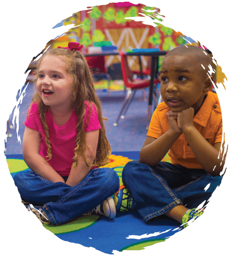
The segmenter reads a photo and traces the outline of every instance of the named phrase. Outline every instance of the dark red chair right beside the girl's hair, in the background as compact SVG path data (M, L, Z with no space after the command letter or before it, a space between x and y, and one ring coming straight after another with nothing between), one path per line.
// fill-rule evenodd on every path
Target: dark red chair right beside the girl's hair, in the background
M87 64L90 67L93 76L105 75L108 82L108 89L110 88L110 76L105 68L105 56L86 56Z

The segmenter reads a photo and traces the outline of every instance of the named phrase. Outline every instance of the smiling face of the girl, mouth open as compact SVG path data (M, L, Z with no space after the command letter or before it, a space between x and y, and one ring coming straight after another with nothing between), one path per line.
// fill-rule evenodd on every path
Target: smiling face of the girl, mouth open
M45 105L70 110L72 78L66 72L64 56L46 55L40 64L36 89Z

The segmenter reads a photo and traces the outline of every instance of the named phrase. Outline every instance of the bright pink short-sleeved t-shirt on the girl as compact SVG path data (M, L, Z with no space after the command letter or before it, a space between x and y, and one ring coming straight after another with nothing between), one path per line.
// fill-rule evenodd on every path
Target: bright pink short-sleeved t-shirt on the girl
M37 109L38 102L32 104L31 111L27 112L27 120L24 123L25 126L31 128L33 130L38 131L41 134L41 149L40 155L45 158L47 155L47 145L45 142L45 131L40 119L40 115ZM96 110L96 106L92 103L91 106L91 116L89 122L87 124L87 117L89 114L89 101L85 101L86 106L86 114L84 116L84 130L85 133L98 130L101 128L100 122L98 120L98 113ZM30 115L29 115L30 114ZM78 117L73 110L73 113L68 120L62 126L58 126L55 124L55 121L52 117L52 114L49 110L45 113L46 123L49 128L49 136L52 148L52 159L49 160L49 164L52 166L55 171L61 176L68 176L73 164L72 158L74 157L74 148L75 141L77 137L77 121ZM96 168L92 167L91 169Z

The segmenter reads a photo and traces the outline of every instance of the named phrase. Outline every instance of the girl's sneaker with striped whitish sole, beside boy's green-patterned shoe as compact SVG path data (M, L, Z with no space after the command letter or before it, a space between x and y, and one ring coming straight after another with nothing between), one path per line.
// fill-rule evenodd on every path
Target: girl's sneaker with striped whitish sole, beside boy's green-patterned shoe
M103 215L109 219L114 219L116 215L114 199L112 197L108 197L99 206L83 215L91 215L92 213Z

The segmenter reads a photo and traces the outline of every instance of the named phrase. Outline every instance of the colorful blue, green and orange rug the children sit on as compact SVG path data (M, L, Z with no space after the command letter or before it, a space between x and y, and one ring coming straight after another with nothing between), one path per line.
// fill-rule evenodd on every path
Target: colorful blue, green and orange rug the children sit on
M23 155L5 155L12 177L28 169ZM110 162L104 167L114 169L122 183L123 166L131 160L139 159L139 152L112 152ZM163 159L169 161L168 155ZM22 204L22 210L23 210ZM25 207L24 207L25 208ZM25 214L27 210L25 208ZM29 213L28 214L32 214ZM35 216L35 221L39 221ZM41 224L42 225L42 224ZM82 215L58 226L44 225L44 228L65 242L93 247L105 254L117 251L141 251L180 231L180 224L168 217L155 219L145 224L136 210L117 212L114 219L99 215Z

